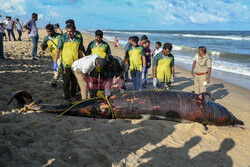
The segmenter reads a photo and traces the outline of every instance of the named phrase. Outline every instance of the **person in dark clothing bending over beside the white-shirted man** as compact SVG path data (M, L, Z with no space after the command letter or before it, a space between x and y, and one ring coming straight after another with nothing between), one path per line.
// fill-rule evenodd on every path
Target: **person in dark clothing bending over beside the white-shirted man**
M105 57L107 67L104 70L105 78L105 96L111 95L111 87L113 85L113 78L116 77L117 89L120 93L125 92L124 83L124 62L118 56L106 55Z

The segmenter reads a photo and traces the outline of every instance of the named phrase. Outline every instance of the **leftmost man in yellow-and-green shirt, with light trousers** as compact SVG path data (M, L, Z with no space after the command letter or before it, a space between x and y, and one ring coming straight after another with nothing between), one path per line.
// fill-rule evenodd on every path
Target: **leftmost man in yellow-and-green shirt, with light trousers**
M54 26L52 24L47 24L45 29L48 35L44 38L43 43L41 44L41 48L43 51L49 48L50 55L54 62L58 42L62 35L55 32ZM61 53L59 53L59 56L57 59L57 65L58 65L58 70L54 71L54 76L53 76L53 81L52 81L53 87L57 86L57 80L59 79L59 74L61 72Z

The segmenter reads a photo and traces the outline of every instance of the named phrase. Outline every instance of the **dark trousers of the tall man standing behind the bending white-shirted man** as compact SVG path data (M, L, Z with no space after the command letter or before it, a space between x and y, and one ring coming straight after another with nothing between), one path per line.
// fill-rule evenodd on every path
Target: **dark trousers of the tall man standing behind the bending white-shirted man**
M63 68L63 92L65 99L70 99L71 97L76 96L77 79L71 68Z

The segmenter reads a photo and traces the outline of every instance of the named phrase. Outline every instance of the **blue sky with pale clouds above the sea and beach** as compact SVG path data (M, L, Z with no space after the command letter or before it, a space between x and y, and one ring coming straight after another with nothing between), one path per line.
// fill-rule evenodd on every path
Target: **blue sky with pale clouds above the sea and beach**
M250 0L0 0L0 15L37 25L116 30L250 30ZM1 18L2 20L4 18Z

